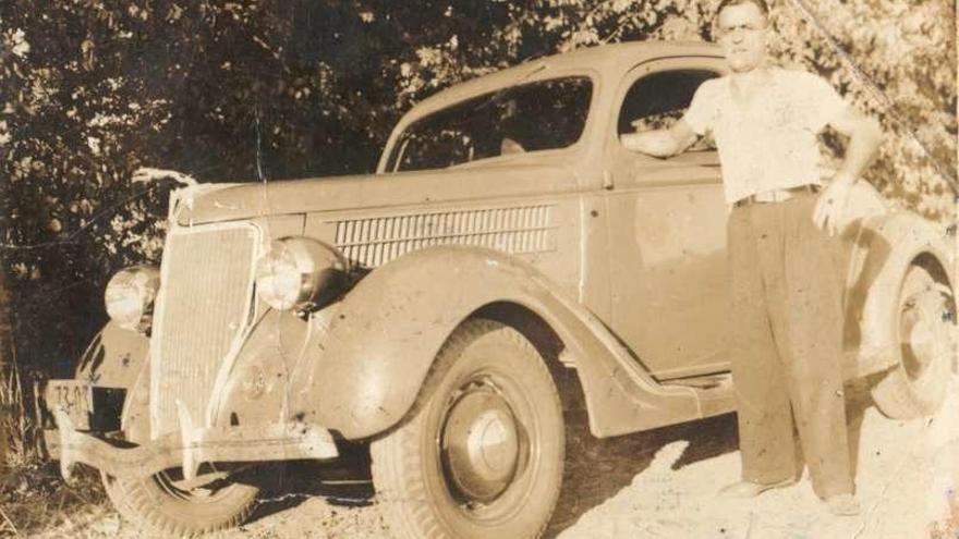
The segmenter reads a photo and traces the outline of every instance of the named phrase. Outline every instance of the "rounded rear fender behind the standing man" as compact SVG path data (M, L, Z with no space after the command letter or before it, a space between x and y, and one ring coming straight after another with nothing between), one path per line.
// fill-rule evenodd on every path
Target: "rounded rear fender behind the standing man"
M911 265L935 265L947 281L944 284L955 283L955 250L948 237L914 213L867 220L858 244L867 250L862 272L847 298L848 311L859 318L847 322L847 328L859 332L854 354L858 360L854 371L847 376L870 375L898 363L899 292ZM850 341L847 331L847 344Z

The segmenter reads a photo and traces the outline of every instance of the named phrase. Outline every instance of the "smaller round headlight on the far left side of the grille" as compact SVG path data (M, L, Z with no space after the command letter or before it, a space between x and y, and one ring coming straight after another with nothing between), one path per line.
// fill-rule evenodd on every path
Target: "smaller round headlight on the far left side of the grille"
M151 322L159 287L160 272L153 266L134 266L118 271L104 291L107 315L121 328L146 330Z

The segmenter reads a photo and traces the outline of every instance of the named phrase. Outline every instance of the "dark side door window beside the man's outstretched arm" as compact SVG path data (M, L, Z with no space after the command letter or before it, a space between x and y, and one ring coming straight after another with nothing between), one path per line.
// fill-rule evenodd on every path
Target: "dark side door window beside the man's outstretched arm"
M717 76L709 70L675 70L641 77L622 101L618 134L669 127L685 113L696 88ZM711 147L712 140L701 140L692 149Z

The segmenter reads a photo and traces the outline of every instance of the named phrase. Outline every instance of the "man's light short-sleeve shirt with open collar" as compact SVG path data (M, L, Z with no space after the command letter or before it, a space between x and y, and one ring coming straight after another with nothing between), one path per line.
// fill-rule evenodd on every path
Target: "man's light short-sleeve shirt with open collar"
M706 81L683 115L697 135L713 132L729 204L822 183L817 135L847 107L816 75L778 68L770 75L749 102L732 98L731 77Z

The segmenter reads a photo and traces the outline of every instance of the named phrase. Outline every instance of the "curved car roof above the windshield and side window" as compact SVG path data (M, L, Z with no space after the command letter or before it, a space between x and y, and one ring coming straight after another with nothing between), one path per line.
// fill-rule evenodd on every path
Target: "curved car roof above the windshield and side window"
M536 58L438 91L414 106L402 123L498 88L550 78L553 73L593 71L598 72L602 78L619 78L623 72L644 60L689 56L721 57L721 51L718 46L706 41L628 41Z

